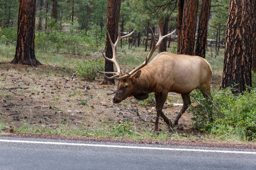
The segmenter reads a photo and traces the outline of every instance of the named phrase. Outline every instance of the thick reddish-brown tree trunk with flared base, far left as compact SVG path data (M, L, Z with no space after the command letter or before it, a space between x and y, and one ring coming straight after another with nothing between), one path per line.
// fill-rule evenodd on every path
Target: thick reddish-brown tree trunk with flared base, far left
M19 0L19 17L16 53L11 63L37 66L35 58L36 0Z

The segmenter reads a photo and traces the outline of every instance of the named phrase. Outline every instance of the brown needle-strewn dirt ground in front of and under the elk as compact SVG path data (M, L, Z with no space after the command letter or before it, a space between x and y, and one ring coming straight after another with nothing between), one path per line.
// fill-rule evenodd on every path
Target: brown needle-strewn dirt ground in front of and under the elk
M72 80L72 75L73 71L61 67L0 63L0 122L7 127L0 131L20 127L24 122L54 130L63 125L67 129L102 128L128 120L134 122L138 133L154 125L154 105L139 105L133 97L114 104L117 85L100 85L102 80L85 82L77 76ZM181 97L170 93L163 112L173 121L181 106ZM178 133L197 133L189 126L191 117L185 113L180 118ZM162 119L159 125L160 130L168 131Z

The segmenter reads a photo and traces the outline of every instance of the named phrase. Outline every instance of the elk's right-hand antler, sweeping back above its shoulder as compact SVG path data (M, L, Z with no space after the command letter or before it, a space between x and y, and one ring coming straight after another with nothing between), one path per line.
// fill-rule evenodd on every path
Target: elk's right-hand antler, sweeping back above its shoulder
M154 35L154 32L153 32L153 30L152 30L151 27L150 27L150 30L151 30L151 32L152 32L152 40L153 40L151 50L150 50L150 52L148 53L148 55L147 55L147 57L146 57L146 60L145 60L141 65L139 65L138 67L136 67L134 70L130 71L130 73L127 74L127 75L129 75L129 76L131 76L132 74L134 74L135 72L137 72L137 71L138 71L139 69L141 69L142 67L146 66L146 65L147 65L147 62L150 60L150 58L151 58L152 55L154 54L155 49L158 48L158 46L161 44L161 42L163 41L163 39L165 39L166 37L172 35L172 34L176 31L176 29L175 29L175 31L173 31L173 32L171 32L171 33L169 33L169 34L167 34L167 35L165 35L165 36L162 36L161 31L160 31L160 28L159 28L159 25L158 25L159 37L158 37L158 42L156 43L156 42L155 42L155 35ZM122 76L122 77L126 78L126 76ZM122 77L120 77L120 78L122 78Z

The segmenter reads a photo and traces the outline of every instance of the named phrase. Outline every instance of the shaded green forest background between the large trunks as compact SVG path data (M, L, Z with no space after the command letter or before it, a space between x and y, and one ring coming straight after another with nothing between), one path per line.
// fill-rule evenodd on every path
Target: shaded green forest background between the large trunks
M201 8L200 2L199 9ZM214 0L211 4L208 39L216 46L216 51L224 45L228 3L228 0ZM18 0L0 1L0 26L2 28L0 35L2 42L15 43L16 41L15 34L11 35L11 32L16 32L18 4ZM200 10L197 13L199 16ZM164 18L167 20L167 32L171 32L177 28L177 14L177 1L126 0L121 3L119 24L122 33L135 30L133 37L129 40L131 48L132 46L145 45L145 50L148 50L150 45L147 41L148 27L155 30L155 25ZM99 46L105 44L106 19L107 0L37 1L36 47L43 46L42 42L39 41L41 41L40 36L43 36L44 33L49 35L51 32L58 32L58 36L65 36L75 31L80 36L87 37L89 44L93 44L96 51ZM167 45L170 47L170 42ZM57 47L57 52L60 51L61 44ZM79 50L73 50L73 53L79 53Z

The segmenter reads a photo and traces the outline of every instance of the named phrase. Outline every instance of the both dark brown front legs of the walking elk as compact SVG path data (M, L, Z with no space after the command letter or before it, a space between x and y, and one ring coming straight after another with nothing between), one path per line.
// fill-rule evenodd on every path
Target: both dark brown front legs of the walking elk
M159 116L163 117L164 122L167 123L167 125L170 127L172 125L172 121L164 115L162 109L163 105L166 102L168 92L160 92L160 94L155 94L155 102L156 102L156 121L154 130L158 130L158 122L159 122Z

